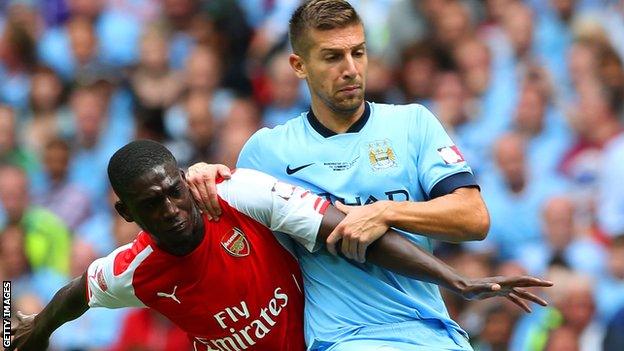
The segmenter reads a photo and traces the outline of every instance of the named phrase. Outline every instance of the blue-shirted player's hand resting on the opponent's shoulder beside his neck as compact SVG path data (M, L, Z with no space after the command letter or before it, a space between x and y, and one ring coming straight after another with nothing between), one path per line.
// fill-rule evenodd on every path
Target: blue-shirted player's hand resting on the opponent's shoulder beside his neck
M191 194L209 220L216 220L221 215L216 184L219 176L230 179L232 173L227 166L209 165L204 162L192 165L186 173L186 183L191 189Z

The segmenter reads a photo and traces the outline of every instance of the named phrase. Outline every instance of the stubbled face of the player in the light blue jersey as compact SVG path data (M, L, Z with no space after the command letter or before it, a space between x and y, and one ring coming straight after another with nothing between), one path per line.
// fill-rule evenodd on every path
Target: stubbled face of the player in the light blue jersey
M302 70L313 99L336 112L355 112L364 103L366 43L361 24L307 33L309 50Z

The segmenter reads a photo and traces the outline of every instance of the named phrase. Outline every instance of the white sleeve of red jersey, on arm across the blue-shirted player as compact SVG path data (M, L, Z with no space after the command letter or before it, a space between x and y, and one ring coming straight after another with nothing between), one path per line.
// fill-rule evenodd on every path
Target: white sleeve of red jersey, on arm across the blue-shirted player
M239 168L217 185L219 196L237 211L272 231L291 236L314 251L323 214L330 203L305 189L251 169Z

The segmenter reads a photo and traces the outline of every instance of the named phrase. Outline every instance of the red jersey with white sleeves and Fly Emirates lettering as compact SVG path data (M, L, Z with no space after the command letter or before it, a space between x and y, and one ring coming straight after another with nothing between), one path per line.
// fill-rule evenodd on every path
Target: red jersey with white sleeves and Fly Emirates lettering
M89 306L153 308L197 351L305 350L301 273L271 230L314 250L329 203L247 169L217 189L223 214L195 250L173 256L139 233L89 266Z

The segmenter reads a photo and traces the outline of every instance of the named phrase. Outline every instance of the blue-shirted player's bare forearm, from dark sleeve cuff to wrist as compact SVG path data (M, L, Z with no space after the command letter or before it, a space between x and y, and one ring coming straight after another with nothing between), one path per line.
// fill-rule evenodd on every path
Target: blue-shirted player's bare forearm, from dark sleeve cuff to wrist
M383 211L390 227L430 238L462 242L483 240L489 229L489 215L477 189L461 188L425 202L385 201Z

